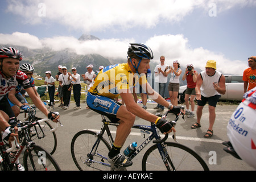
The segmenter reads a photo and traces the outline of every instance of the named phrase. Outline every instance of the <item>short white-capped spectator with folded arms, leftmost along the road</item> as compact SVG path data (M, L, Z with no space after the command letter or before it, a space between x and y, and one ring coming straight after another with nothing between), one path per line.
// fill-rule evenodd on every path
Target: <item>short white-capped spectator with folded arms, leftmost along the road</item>
M48 93L49 93L49 106L52 106L54 103L54 93L55 93L55 80L52 77L52 72L51 71L46 71L46 79L44 81L45 85L48 85Z

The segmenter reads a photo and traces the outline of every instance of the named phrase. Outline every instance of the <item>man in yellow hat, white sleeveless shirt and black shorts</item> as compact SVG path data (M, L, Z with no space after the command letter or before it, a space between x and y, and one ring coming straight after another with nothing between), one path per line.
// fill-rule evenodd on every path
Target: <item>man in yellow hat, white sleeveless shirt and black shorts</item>
M201 117L203 108L208 102L209 106L209 128L205 133L205 138L210 138L213 135L213 124L216 113L215 107L221 94L226 93L225 77L222 73L216 71L216 61L209 60L205 65L205 71L197 76L196 82L196 100L197 100L197 122L191 126L191 129L201 127Z

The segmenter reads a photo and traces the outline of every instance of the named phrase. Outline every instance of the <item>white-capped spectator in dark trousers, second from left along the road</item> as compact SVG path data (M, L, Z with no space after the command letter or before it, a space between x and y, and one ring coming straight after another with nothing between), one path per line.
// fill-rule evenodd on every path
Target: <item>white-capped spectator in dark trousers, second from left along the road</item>
M61 68L63 73L59 76L59 84L62 86L63 92L63 109L68 109L70 98L71 98L71 90L72 90L72 78L67 73L67 67Z

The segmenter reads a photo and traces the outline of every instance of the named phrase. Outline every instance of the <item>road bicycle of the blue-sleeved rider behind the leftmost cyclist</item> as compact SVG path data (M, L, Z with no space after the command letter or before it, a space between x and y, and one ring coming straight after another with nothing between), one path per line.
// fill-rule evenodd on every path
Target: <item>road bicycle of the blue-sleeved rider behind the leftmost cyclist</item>
M24 113L24 119L23 121L19 121L18 125L20 125L20 123L23 123L24 121L32 123L42 119L36 117L36 106L31 106L30 109L26 111L21 111L21 113ZM36 144L42 146L52 155L57 148L57 136L55 130L57 129L58 125L57 123L53 123L53 125L55 125L55 127L53 128L49 121L51 120L47 119L46 121L40 123L40 125L34 125L34 127L31 128L31 131L28 132L32 141L35 141ZM23 133L19 133L20 142L22 142L23 139L22 134Z

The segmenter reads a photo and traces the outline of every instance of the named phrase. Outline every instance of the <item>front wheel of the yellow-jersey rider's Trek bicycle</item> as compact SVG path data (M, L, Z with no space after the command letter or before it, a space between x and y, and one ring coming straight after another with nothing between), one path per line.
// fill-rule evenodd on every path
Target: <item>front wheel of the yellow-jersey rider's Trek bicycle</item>
M179 143L165 142L164 156L160 155L158 145L148 148L142 159L143 171L208 171L204 160L195 151ZM166 160L168 165L164 163Z

